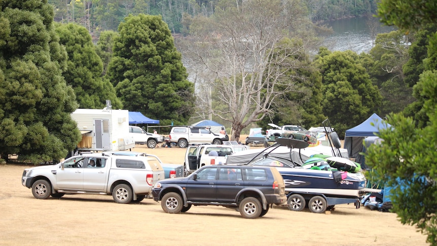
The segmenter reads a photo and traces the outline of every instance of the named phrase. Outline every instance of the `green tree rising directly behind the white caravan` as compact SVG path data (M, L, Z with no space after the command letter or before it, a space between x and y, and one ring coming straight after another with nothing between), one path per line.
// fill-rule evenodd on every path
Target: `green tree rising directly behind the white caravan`
M95 51L88 30L78 24L57 24L60 43L67 50L67 70L63 76L76 93L82 109L102 109L111 100L114 109L121 109L114 86L102 79L103 63Z

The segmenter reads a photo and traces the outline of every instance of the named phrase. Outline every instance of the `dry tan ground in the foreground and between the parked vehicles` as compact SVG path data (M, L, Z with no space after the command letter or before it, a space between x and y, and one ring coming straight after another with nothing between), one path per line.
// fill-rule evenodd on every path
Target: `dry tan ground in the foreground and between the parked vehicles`
M183 164L186 149L135 151ZM0 165L0 245L427 245L396 214L336 205L330 214L273 206L262 218L243 219L234 209L193 206L165 214L160 203L118 204L112 196L65 195L35 199L21 185L26 166Z

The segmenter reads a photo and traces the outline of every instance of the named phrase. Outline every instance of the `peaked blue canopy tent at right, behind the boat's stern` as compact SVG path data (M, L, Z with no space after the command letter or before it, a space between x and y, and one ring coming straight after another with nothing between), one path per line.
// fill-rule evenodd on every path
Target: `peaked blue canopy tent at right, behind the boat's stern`
M346 130L344 148L347 149L349 157L355 158L355 161L358 163L363 163L363 156L359 154L363 151L363 139L369 136L376 136L380 129L389 127L391 127L390 124L384 123L384 120L374 113L361 124Z

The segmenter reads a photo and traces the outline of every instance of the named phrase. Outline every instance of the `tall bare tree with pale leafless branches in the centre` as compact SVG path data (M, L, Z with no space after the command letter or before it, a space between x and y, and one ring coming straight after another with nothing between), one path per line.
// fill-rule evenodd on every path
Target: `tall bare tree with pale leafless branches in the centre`
M231 139L238 140L243 128L273 113L277 98L299 89L297 79L304 76L297 71L302 63L295 56L305 48L283 41L311 29L305 26L304 6L299 0L224 0L211 18L192 20L192 42L186 44L184 57L203 71L199 88L207 88L198 91L203 101L197 104L232 124Z

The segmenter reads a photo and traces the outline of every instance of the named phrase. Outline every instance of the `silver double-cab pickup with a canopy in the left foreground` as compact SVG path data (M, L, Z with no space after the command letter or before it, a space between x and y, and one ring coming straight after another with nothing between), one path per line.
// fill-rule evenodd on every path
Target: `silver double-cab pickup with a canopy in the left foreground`
M21 183L38 199L112 194L117 203L130 203L150 197L154 184L163 179L164 169L156 159L95 153L24 169Z

